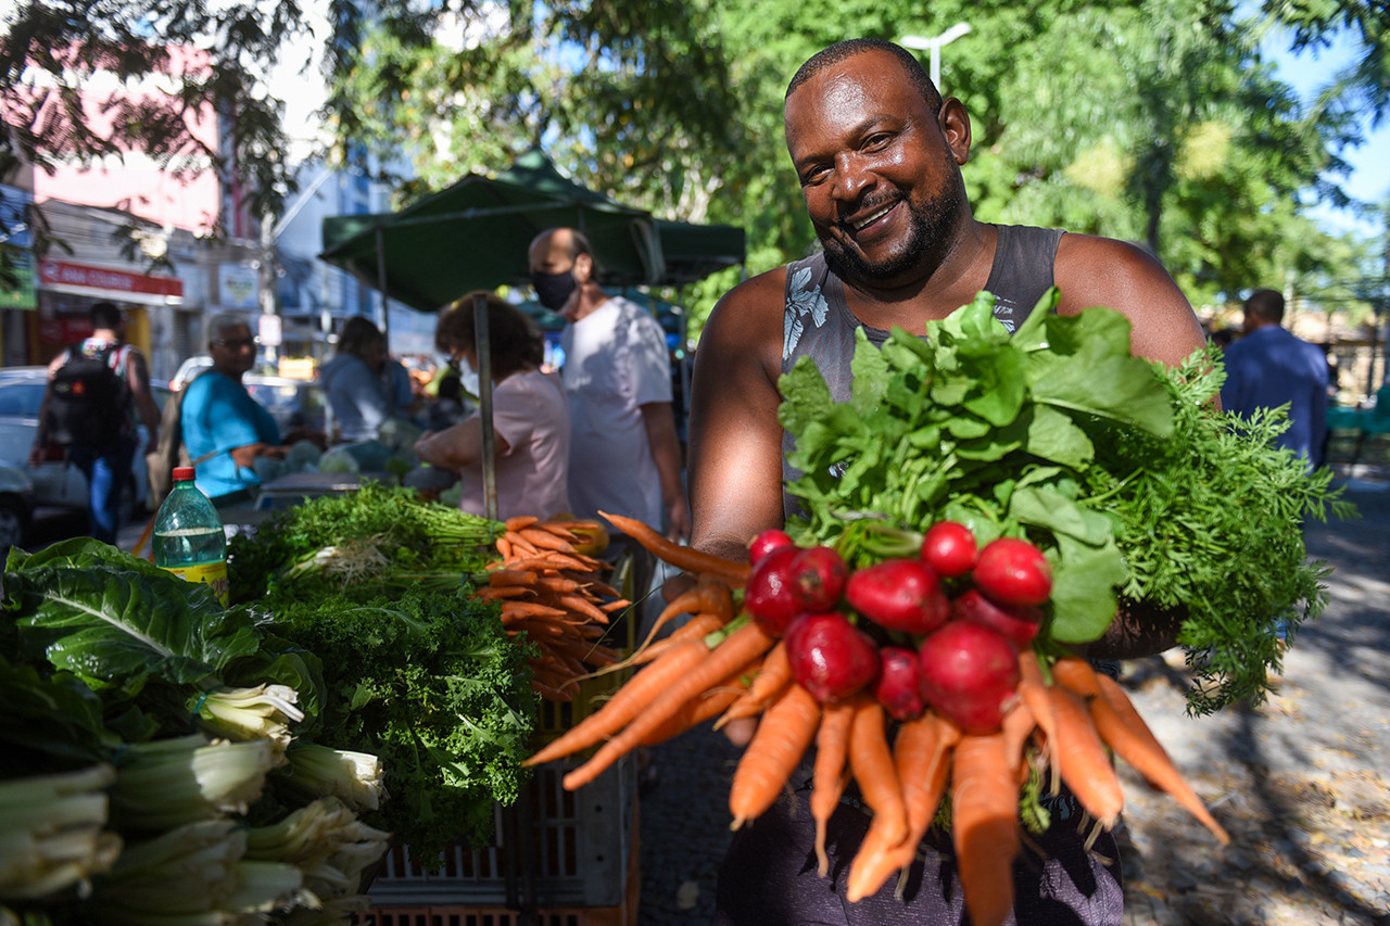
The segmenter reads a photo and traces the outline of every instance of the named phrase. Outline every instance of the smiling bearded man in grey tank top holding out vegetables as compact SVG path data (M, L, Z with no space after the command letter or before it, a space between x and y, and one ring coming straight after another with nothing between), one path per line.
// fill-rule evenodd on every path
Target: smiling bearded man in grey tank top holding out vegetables
M1202 345L1191 306L1141 249L1061 229L974 218L960 165L970 118L942 100L912 53L855 39L812 57L785 101L787 150L821 250L759 277L716 306L701 339L691 388L692 545L746 556L749 539L780 527L788 438L777 423L777 378L815 360L837 400L849 396L855 332L881 343L894 327L924 334L980 291L1011 331L1052 286L1058 311L1111 306L1133 324L1136 356L1177 363ZM1106 655L1159 652L1172 622L1116 620ZM1097 648L1099 652L1101 648ZM795 780L799 786L802 781ZM890 882L848 904L845 872L869 818L851 802L831 820L833 876L816 875L806 790L745 826L720 873L720 923L958 923L959 882L949 838L929 834L908 901ZM1029 923L1113 923L1123 913L1113 840L1087 851L1077 818L1037 840L1015 868L1015 913ZM808 863L808 858L810 862Z

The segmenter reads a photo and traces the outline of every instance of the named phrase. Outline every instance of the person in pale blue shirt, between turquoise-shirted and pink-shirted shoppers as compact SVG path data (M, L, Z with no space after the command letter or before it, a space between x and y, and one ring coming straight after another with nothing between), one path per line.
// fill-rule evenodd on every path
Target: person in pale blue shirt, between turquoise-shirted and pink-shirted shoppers
M318 373L342 441L374 441L392 417L395 399L385 375L386 338L368 318L349 318L338 335L334 359Z

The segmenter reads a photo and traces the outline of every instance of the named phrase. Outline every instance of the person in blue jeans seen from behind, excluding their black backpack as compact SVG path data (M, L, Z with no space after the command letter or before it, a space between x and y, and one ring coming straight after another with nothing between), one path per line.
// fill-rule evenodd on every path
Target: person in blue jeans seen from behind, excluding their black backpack
M49 389L39 410L39 428L33 448L29 449L29 466L38 469L47 459L47 407L53 377L75 356L104 357L121 382L121 395L114 402L117 414L121 416L120 431L113 439L72 444L68 459L88 480L88 524L92 537L114 544L121 530L121 491L129 481L131 463L139 444L135 417L139 416L149 434L146 445L154 446L160 439L160 407L150 391L150 370L145 355L125 343L125 313L114 303L97 302L88 310L88 316L92 320L92 336L75 349L68 348L49 364Z

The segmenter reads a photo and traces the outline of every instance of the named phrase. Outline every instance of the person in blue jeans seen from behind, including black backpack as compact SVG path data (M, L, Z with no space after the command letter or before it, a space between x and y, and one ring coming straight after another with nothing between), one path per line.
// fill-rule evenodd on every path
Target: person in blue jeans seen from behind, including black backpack
M88 480L92 537L114 544L121 528L121 491L139 444L135 417L145 423L153 445L160 437L160 409L145 355L125 343L125 313L99 302L89 317L92 336L49 364L29 466L38 469L47 459L50 444L64 448Z

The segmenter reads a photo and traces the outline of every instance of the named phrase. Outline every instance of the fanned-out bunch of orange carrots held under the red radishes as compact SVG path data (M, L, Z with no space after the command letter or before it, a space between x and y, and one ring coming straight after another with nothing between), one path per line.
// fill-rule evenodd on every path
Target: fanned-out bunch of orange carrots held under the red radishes
M627 660L645 667L599 710L527 759L525 765L538 765L594 749L563 777L567 790L592 781L637 747L708 720L719 729L756 716L758 730L730 788L734 829L773 806L815 745L810 808L821 876L828 870L826 825L851 780L873 820L848 872L849 901L906 872L948 804L965 902L976 926L1002 923L1013 908L1020 790L1034 770L1054 788L1068 786L1094 838L1099 827L1115 825L1123 806L1112 751L1175 797L1222 844L1229 841L1123 688L1084 659L1020 649L1016 691L997 729L987 731L963 729L930 706L897 722L870 691L820 699L794 679L785 638L735 606L749 563L671 544L641 521L603 517L699 578L670 602L657 627L680 613L692 617L663 640L649 637Z

